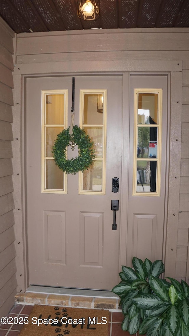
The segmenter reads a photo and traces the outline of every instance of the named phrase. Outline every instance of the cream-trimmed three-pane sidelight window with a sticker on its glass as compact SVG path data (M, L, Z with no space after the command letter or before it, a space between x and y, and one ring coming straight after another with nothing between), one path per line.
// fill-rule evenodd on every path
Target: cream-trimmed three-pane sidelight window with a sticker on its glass
M133 195L160 196L162 89L135 89Z

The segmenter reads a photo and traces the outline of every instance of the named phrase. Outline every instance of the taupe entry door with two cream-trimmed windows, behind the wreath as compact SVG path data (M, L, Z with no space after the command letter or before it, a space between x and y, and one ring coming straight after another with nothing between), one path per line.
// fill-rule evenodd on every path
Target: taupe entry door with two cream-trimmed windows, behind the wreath
M26 167L29 282L111 289L118 281L120 212L112 230L112 178L121 178L122 76L75 77L75 124L96 149L93 167L75 175L54 164L51 148L70 125L72 77L28 78ZM77 146L68 148L68 159Z

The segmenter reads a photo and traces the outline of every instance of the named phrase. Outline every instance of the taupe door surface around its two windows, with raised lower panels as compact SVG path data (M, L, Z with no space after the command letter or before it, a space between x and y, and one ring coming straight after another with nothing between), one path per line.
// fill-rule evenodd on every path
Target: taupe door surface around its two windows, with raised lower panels
M72 78L27 79L29 279L35 285L111 289L119 272L120 211L113 231L111 199L120 204L121 188L114 194L111 187L112 178L121 177L122 76L75 77L78 125L80 89L107 89L106 195L79 195L78 173L68 174L67 194L41 193L41 91L68 90L70 125Z

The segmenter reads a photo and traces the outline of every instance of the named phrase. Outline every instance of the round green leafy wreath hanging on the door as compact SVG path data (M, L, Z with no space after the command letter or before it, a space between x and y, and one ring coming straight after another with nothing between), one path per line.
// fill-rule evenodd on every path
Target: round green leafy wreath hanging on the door
M76 174L78 171L88 169L95 159L95 149L93 142L88 134L77 125L73 126L73 134L69 133L70 127L64 129L57 135L52 147L52 153L56 166L63 170L66 174ZM70 142L74 141L78 146L78 157L66 160L66 147Z

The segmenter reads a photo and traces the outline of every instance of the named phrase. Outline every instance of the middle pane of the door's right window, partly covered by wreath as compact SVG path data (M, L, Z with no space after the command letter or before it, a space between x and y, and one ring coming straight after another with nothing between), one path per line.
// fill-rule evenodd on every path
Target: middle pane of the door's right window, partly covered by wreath
M103 157L103 128L102 127L84 127L85 132L94 142L97 158Z

